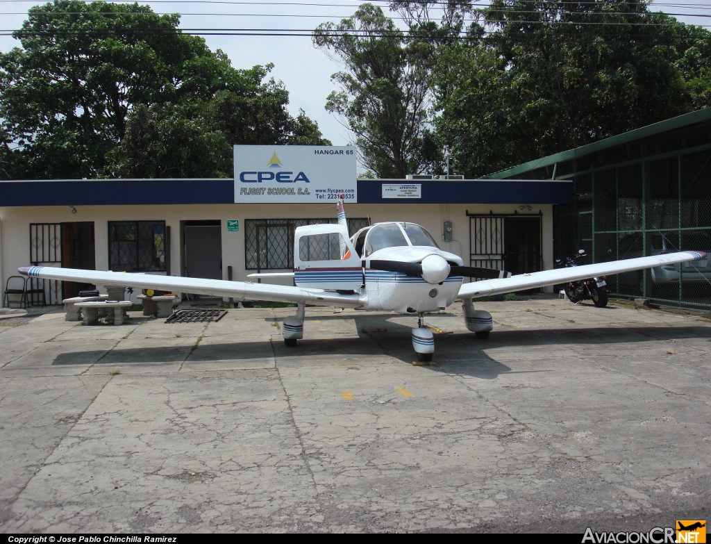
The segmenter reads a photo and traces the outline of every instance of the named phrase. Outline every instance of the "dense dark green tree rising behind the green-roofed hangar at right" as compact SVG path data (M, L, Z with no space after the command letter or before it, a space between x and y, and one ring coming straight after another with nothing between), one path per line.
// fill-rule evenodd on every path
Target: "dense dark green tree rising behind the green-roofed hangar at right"
M709 103L711 34L644 1L493 0L481 14L469 41L440 51L432 77L437 134L463 174Z

